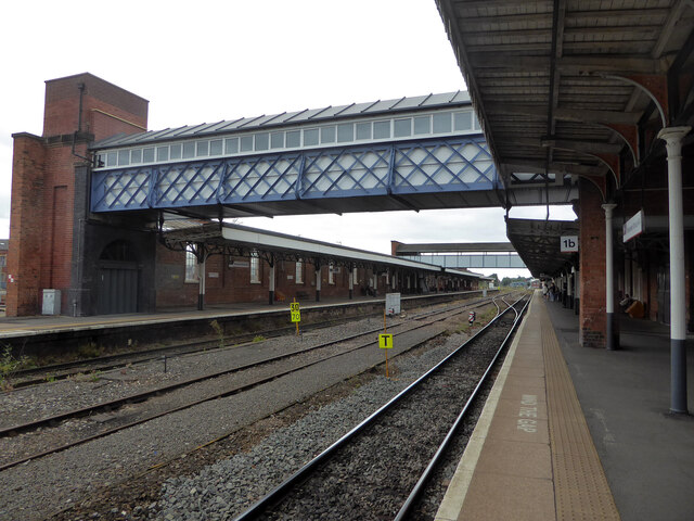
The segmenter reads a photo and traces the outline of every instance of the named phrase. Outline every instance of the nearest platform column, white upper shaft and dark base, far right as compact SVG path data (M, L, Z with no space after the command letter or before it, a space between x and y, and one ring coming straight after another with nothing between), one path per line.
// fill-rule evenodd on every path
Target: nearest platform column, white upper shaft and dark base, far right
M682 138L691 127L667 127L658 138L668 151L668 207L670 228L670 412L687 412L686 406L686 301L684 227L682 209Z

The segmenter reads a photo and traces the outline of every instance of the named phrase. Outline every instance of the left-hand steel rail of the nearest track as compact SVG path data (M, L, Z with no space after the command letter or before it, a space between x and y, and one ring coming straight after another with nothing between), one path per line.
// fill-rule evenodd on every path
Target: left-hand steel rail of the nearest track
M499 309L498 304L494 302L494 305L497 305L497 308ZM485 334L487 332L487 330L489 328L491 328L497 320L499 320L501 317L503 317L506 313L509 313L509 310L512 309L506 308L504 312L499 313L493 320L489 321L489 323L487 323L484 328L481 328L479 331L477 331L473 336L471 336L470 339L467 339L463 344L461 344L458 348L455 348L452 353L450 353L448 356L446 356L444 359L441 359L438 364L436 364L434 367L432 367L428 371L426 371L424 374L422 374L420 378L417 378L414 382L412 382L410 385L408 385L406 389L403 389L402 391L400 391L398 394L396 394L393 398L390 398L385 405L381 406L376 411L374 411L373 414L371 414L367 419L364 419L361 423L359 423L358 425L356 425L354 429L351 429L349 432L347 432L344 436L342 436L339 440L337 440L336 442L334 442L331 446L329 446L325 450L323 450L321 454L319 454L318 456L316 456L311 461L309 461L308 463L306 463L304 467L301 467L298 471L296 471L293 475L291 475L290 478L287 478L284 482L282 482L281 484L279 484L275 488L273 488L272 491L270 491L266 496L264 496L262 498L260 498L257 503L255 503L253 506L250 506L246 511L244 511L243 513L241 513L240 516L237 516L236 518L234 518L233 521L249 521L252 519L257 519L259 516L262 514L262 512L270 507L273 504L280 503L282 496L285 495L285 493L287 491L290 491L293 486L295 486L296 484L298 484L299 482L304 481L305 479L308 478L308 475L318 467L320 466L323 461L332 458L334 456L334 454L337 452L337 449L342 448L343 446L345 446L347 443L349 443L357 434L359 434L360 432L362 432L365 428L368 428L369 425L371 425L372 422L374 422L376 419L378 419L382 415L384 415L387 410L389 410L395 404L399 403L404 396L407 396L408 394L410 394L414 389L416 389L422 382L424 382L425 380L427 380L432 374L434 374L435 372L437 372L442 366L445 366L448 360L452 357L454 357L459 351L461 351L462 348L464 348L467 344L470 344L471 342L473 342L474 340L476 340L477 338L481 336L483 334ZM514 309L515 310L515 309ZM517 312L516 312L517 314Z

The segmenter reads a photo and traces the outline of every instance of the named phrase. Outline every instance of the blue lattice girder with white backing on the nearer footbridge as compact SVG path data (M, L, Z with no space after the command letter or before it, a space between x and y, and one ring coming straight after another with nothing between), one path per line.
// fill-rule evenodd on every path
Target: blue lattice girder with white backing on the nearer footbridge
M92 174L92 212L492 190L481 137L257 154Z

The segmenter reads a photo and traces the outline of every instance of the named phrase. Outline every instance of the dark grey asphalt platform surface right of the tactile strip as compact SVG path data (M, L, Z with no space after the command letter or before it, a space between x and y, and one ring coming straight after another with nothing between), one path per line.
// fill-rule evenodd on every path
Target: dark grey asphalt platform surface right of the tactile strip
M694 520L694 336L690 415L670 415L668 326L620 315L620 350L590 350L573 310L547 307L621 519Z

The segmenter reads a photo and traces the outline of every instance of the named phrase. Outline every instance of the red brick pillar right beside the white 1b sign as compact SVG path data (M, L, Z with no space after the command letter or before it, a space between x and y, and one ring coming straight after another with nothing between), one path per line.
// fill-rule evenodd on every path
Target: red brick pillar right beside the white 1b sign
M586 179L579 182L579 342L605 347L605 211L600 191Z

